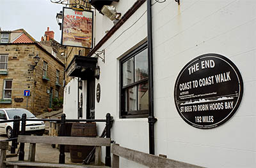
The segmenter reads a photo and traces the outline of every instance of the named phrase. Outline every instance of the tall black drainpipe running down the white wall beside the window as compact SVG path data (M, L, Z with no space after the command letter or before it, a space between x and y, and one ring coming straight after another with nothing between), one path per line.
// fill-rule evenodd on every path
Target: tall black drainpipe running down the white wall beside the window
M148 29L148 131L149 131L149 153L155 155L154 124L157 119L154 116L154 85L153 85L153 47L152 47L152 8L151 0L147 0L147 29Z

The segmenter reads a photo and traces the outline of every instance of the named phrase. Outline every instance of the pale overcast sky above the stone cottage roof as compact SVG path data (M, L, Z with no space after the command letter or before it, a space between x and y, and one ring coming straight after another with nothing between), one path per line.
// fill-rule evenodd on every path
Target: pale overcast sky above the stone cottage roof
M47 27L54 31L54 39L60 42L61 31L56 13L62 4L50 0L0 0L0 27L2 31L24 29L36 41L41 41Z

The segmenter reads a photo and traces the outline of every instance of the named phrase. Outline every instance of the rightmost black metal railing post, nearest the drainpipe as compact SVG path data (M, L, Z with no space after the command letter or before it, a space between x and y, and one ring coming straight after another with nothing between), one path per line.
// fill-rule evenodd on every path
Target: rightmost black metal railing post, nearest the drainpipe
M111 115L107 113L106 115L106 137L110 138L111 136ZM106 157L105 157L105 165L106 166L111 166L111 156L110 156L110 146L106 146Z

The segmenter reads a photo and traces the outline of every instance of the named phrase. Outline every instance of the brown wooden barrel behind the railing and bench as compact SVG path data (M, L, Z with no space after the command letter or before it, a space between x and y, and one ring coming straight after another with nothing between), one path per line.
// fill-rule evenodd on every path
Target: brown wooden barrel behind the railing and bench
M96 123L73 123L71 129L72 137L96 137ZM92 151L93 146L70 146L70 159L74 163L82 163Z

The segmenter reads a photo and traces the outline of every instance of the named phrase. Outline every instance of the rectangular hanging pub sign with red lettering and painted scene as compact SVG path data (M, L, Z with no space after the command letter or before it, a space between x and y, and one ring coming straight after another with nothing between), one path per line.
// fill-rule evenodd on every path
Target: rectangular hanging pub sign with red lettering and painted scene
M92 48L93 11L63 7L61 45Z

